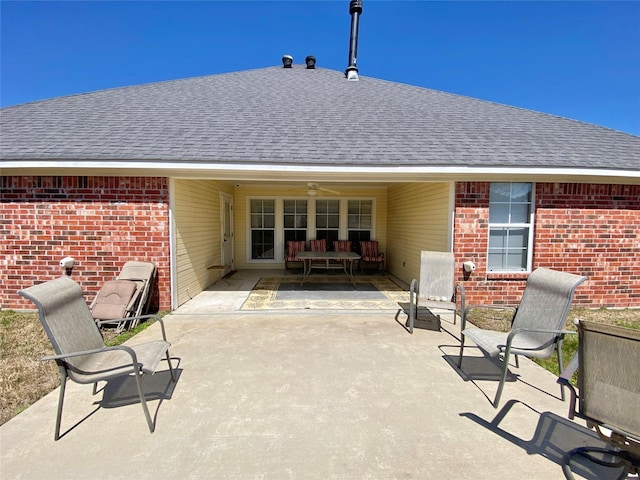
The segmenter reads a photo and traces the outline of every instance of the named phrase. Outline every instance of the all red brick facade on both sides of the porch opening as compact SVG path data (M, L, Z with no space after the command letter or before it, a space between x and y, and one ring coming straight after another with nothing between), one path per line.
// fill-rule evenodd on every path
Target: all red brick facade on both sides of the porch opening
M17 290L72 278L90 302L127 260L158 267L157 308L170 310L169 193L166 178L2 177L0 307L31 309ZM526 274L487 273L489 183L456 184L454 251L477 269L459 280L470 303L516 304ZM533 268L585 275L574 304L640 307L640 186L535 186Z

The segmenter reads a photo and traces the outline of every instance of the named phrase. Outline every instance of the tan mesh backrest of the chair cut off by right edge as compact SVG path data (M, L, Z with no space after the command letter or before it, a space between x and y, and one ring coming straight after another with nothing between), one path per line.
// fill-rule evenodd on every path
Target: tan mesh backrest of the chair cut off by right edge
M579 412L640 439L640 330L578 323Z

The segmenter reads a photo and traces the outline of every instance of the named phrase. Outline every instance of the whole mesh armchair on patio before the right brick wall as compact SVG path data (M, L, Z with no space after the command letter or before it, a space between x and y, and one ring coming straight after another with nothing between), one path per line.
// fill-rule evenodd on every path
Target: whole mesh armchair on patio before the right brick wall
M562 341L567 333L572 333L564 330L564 326L575 290L585 280L586 277L547 268L538 268L533 271L527 279L520 305L515 308L509 332L467 326L467 315L471 309L504 309L505 306L471 305L463 311L458 368L462 369L462 353L467 338L473 341L485 355L492 358L500 355L503 357L500 383L493 401L495 408L500 403L509 370L510 355L515 355L516 367L519 367L518 355L547 358L555 350L558 369L562 373ZM564 400L562 388L560 393Z

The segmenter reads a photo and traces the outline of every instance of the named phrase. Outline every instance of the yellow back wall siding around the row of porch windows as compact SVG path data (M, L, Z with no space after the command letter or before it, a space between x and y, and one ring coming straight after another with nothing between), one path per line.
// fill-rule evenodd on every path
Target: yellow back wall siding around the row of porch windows
M380 242L381 251L387 248L387 189L386 187L354 188L354 187L333 187L340 192L340 195L320 195L315 198L321 199L341 199L341 198L362 198L373 199L375 202L375 240ZM248 222L248 199L249 198L287 198L287 199L312 199L304 193L304 186L291 184L291 186L280 186L277 188L261 186L239 186L234 189L234 225L235 225L235 261L237 269L256 268L284 268L284 262L251 263L247 261L247 222ZM278 245L284 250L284 245Z

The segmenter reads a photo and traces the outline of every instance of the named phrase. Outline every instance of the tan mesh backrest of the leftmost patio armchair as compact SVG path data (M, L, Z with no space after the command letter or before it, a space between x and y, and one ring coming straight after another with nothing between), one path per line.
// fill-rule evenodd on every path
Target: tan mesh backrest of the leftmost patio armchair
M60 277L18 292L38 307L38 315L57 354L104 347L82 288L69 277ZM66 362L74 365L82 357Z

